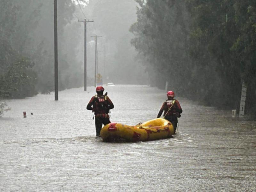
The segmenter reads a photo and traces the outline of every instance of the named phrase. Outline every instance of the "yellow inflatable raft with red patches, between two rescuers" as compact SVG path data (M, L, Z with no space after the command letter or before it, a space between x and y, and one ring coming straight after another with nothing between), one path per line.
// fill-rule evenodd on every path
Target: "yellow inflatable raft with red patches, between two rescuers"
M103 141L148 141L165 139L174 133L172 124L164 118L157 118L135 126L120 123L105 125L100 136Z

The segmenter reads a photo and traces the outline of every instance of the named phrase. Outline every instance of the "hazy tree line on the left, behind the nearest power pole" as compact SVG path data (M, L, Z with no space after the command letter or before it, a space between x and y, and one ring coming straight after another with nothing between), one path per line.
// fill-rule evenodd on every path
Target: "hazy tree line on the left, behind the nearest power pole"
M0 98L25 98L53 91L53 1L0 3ZM59 89L81 87L82 67L74 56L80 39L76 38L76 31L69 38L66 34L75 4L62 0L58 11Z

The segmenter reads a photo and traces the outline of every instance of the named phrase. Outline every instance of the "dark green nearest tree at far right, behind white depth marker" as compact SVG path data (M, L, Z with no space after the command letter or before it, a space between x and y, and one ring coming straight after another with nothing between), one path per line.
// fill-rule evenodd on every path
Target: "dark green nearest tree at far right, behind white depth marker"
M255 2L250 0L187 2L193 20L191 56L195 62L201 63L202 55L208 55L208 62L202 63L205 66L209 66L208 63L215 60L212 70L216 72L218 80L212 83L217 84L219 81L219 86L214 88L212 93L215 98L220 98L218 105L238 108L243 81L249 87L247 105L255 103L252 102L252 98L255 98L253 91L255 90L253 83L255 82L255 62L253 62ZM249 105L248 107L250 108Z

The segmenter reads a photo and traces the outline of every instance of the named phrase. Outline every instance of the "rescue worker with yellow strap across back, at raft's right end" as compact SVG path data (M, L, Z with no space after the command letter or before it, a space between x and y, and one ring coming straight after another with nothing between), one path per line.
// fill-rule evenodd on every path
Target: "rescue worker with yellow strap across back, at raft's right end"
M167 92L167 100L163 103L157 118L159 118L163 111L164 111L164 118L170 121L174 128L174 134L176 132L178 117L180 117L182 113L182 108L180 107L180 103L178 100L174 99L174 92L168 91Z

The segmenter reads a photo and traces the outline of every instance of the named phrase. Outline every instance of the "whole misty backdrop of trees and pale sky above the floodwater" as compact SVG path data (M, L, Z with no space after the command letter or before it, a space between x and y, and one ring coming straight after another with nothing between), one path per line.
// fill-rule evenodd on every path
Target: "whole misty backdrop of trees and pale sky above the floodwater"
M0 97L54 90L52 0L0 0ZM256 3L253 0L60 0L59 90L94 82L95 39L103 83L174 90L199 104L256 114Z

